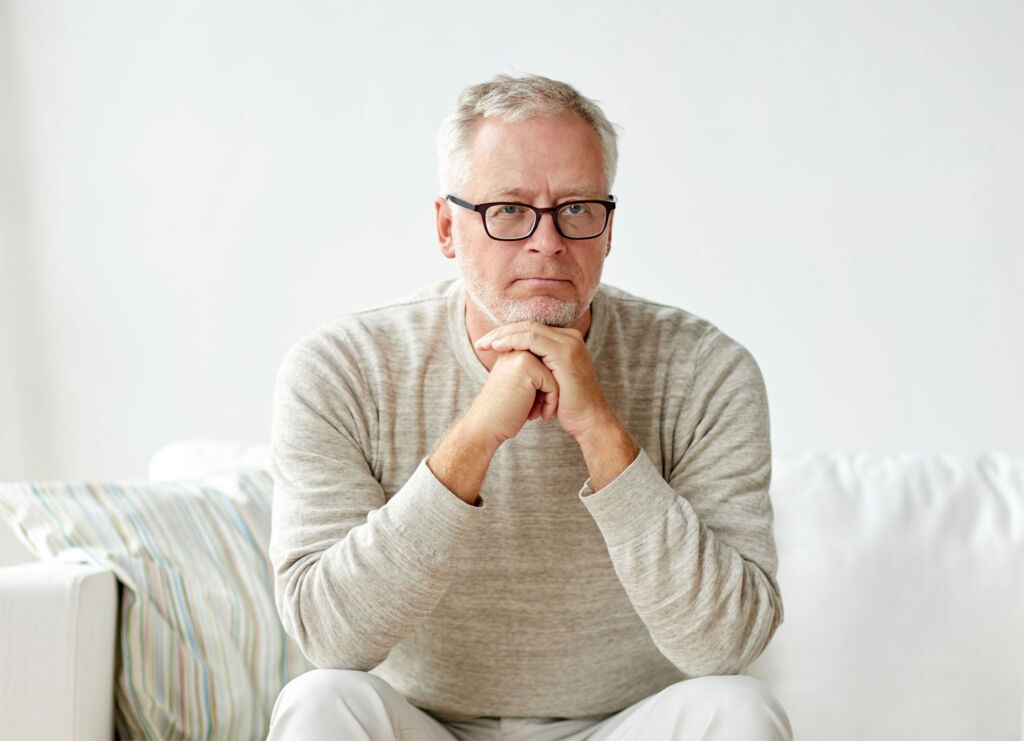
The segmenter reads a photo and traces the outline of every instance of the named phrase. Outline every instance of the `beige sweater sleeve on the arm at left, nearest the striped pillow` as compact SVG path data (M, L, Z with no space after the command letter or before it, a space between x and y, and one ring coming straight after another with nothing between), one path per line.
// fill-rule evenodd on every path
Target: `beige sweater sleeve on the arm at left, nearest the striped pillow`
M306 657L368 670L440 600L480 508L424 463L386 497L371 463L376 411L355 365L302 346L282 365L270 559L282 622Z

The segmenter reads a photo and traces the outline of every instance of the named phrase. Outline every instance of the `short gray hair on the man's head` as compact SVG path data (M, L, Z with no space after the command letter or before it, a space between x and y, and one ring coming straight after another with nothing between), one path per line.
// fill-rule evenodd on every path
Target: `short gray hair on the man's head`
M539 75L499 75L489 82L466 88L455 110L444 117L437 132L437 167L441 192L451 193L466 184L472 163L469 139L477 124L494 116L505 121L523 121L538 116L577 114L601 140L604 180L611 189L618 162L615 128L601 107L571 85Z

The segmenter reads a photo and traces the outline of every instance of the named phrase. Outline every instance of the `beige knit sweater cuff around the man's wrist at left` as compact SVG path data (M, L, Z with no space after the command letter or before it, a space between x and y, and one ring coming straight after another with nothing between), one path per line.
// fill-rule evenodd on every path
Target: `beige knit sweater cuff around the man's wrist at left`
M483 507L460 499L421 461L409 481L377 511L401 538L402 550L420 554L451 553L484 516Z

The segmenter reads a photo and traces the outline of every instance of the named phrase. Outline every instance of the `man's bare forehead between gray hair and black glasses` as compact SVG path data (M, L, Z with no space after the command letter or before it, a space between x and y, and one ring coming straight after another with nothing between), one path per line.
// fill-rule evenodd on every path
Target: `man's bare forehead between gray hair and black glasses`
M469 152L469 187L477 198L607 194L601 139L577 114L484 119Z

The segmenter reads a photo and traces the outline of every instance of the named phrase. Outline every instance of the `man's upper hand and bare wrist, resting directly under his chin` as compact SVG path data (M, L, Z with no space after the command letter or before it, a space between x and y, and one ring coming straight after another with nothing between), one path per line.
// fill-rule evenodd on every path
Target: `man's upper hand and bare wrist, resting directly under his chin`
M550 419L553 402L558 424L580 444L595 489L610 483L636 459L640 450L608 404L579 331L520 321L488 332L476 341L476 349L501 353L499 360L525 352L544 363L557 385L557 394L546 399L544 419Z

